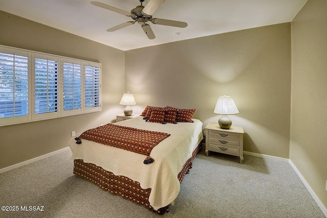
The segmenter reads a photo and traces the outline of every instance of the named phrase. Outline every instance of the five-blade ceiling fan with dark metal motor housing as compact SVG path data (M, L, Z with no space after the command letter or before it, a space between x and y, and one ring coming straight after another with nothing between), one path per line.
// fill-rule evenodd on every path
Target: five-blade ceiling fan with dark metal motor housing
M118 26L109 28L108 32L113 32L119 29L122 29L124 27L128 27L130 25L133 25L135 22L141 25L143 31L148 36L149 39L154 39L155 35L150 27L148 25L148 21L151 21L153 24L158 25L166 25L171 27L180 27L185 28L188 26L188 23L182 22L182 21L176 21L176 20L167 20L167 19L160 19L160 18L152 18L152 14L159 8L162 3L164 3L166 0L150 0L150 2L143 6L143 2L145 0L139 0L141 2L141 5L136 6L136 8L132 9L131 12L121 10L119 8L115 8L109 5L106 5L101 2L91 2L92 5L107 9L109 11L113 11L116 13L120 13L123 15L126 15L128 17L131 17L133 21L124 22Z

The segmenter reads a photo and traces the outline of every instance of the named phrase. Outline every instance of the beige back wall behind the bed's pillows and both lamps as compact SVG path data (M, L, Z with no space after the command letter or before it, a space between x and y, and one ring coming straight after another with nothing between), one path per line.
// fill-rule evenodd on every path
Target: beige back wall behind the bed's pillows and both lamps
M195 108L218 123L219 96L232 96L245 131L244 150L289 157L290 23L206 36L125 52L125 90L146 105ZM160 36L157 36L160 37Z

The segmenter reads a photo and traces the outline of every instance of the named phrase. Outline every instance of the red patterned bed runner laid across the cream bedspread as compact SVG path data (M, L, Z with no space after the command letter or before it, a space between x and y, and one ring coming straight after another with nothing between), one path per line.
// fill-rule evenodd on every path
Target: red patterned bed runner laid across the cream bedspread
M79 138L149 156L151 150L168 136L168 133L107 124L86 130Z

